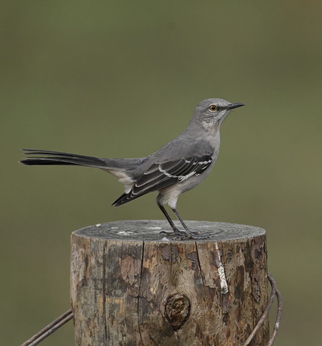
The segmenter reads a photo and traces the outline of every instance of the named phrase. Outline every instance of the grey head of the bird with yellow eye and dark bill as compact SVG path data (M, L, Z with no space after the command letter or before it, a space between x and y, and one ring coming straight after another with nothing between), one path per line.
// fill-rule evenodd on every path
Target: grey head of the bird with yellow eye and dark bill
M241 106L245 106L244 103L230 103L222 99L203 100L196 107L191 121L197 122L206 130L216 130L233 108Z

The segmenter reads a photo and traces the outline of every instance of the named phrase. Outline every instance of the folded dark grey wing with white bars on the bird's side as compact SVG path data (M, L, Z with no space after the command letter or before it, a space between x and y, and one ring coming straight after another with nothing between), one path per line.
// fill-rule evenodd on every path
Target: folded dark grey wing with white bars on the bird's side
M128 194L123 194L113 204L118 207L148 192L158 191L176 182L185 181L193 175L199 175L210 166L211 161L212 154L207 154L155 163L141 174Z

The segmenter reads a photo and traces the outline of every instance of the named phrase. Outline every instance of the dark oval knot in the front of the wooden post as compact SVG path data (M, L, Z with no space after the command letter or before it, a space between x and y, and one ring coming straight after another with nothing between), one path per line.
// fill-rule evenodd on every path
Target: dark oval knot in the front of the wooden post
M174 330L183 326L190 313L190 302L183 294L175 294L166 303L167 318Z

